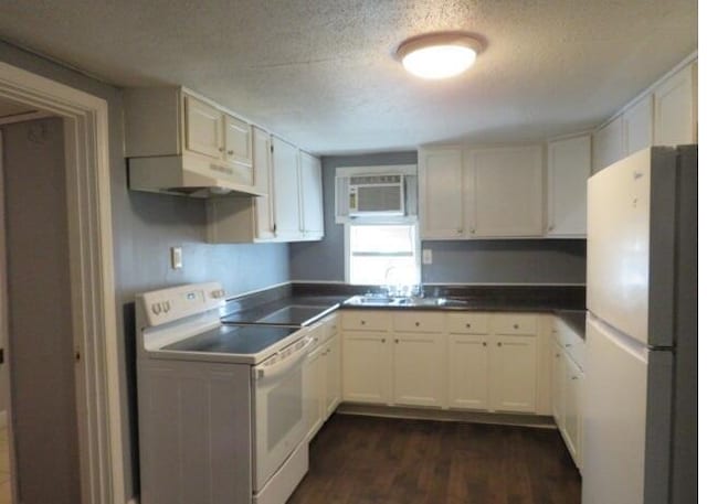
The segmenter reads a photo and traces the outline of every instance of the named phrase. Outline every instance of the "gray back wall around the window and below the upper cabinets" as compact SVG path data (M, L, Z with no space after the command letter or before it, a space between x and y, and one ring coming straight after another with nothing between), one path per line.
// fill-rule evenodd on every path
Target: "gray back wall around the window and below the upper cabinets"
M336 169L416 164L416 152L326 157L321 160L325 238L292 244L293 280L344 281L344 225L335 224ZM585 240L507 239L423 242L433 264L422 266L425 283L584 283Z

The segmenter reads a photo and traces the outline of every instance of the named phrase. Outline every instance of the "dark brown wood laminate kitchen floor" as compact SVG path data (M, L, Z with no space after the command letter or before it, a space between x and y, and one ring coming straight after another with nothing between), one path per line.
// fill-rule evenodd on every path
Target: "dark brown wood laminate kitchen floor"
M288 504L579 504L556 430L334 415Z

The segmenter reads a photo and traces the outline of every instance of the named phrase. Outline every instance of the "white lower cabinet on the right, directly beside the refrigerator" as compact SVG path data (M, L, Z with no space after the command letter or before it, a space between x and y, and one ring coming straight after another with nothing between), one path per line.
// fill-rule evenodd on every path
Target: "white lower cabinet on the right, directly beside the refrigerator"
M559 319L552 330L552 416L564 444L582 469L582 371L584 342Z

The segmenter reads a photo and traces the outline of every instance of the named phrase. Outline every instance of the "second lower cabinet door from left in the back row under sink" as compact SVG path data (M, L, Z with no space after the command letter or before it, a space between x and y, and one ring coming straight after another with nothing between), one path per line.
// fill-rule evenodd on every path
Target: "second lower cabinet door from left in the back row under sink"
M442 334L397 333L393 345L393 403L444 406L444 357Z

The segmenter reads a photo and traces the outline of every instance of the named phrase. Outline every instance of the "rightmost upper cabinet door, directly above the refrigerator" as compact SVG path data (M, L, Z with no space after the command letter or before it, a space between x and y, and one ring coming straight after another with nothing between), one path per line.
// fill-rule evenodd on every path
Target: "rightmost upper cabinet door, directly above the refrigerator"
M656 146L697 142L696 75L692 64L655 88Z

